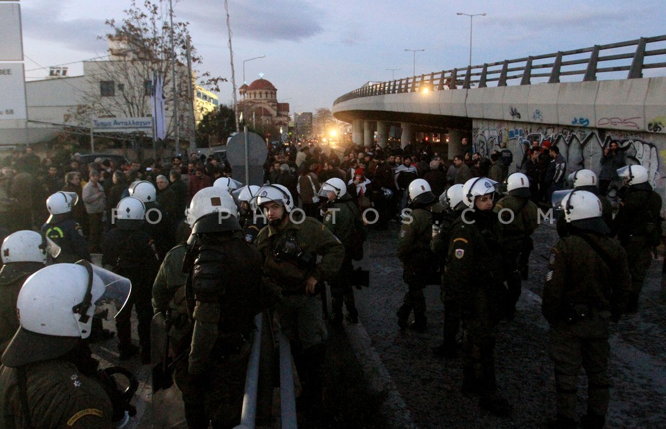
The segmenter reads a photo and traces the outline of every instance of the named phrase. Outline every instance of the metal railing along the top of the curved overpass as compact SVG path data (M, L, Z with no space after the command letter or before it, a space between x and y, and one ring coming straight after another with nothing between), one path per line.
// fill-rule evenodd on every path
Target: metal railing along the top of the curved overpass
M333 104L359 97L406 92L485 88L488 84L505 87L509 81L519 81L519 85L531 85L537 81L558 83L563 76L583 76L582 81L588 82L597 80L600 74L609 76L614 73L617 76L617 72L622 71L627 71L627 79L642 78L646 69L666 69L666 43L660 43L665 41L666 35L641 37L379 82L348 92ZM648 58L656 61L646 62Z

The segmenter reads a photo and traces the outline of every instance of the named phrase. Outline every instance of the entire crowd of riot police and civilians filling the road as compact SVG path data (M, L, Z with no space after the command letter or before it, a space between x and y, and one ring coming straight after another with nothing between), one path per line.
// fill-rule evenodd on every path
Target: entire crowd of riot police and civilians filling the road
M577 424L582 366L589 398L583 424L603 427L608 323L638 311L650 252L661 236L662 202L647 170L623 167L611 145L598 180L590 170L564 177L558 148L536 142L520 171L509 174L506 152L485 159L467 139L461 147L449 166L429 146L416 152L411 144L350 145L327 154L309 145L269 146L262 186L242 186L224 160L197 154L187 165L172 157L169 166L152 160L116 166L110 159L83 166L78 154L56 165L30 149L15 152L0 175L0 227L7 236L0 284L9 285L0 297L2 423L108 427L132 411L89 349L115 335L96 316L102 305L115 317L120 361L139 355L155 365L151 319L162 315L190 428L239 423L253 317L273 308L302 385L298 409L320 415L323 288L331 291L330 326L358 323L352 261L363 257L366 229L384 230L391 222L400 222L398 259L407 285L398 327L427 329L423 289L440 284L445 327L434 352L462 353L463 394L506 416L511 405L495 383L496 331L500 319L515 315L537 204L547 200L562 213L542 308L556 366L556 424ZM549 162L541 157L545 149ZM599 189L601 177L626 184L615 219ZM564 191L565 182L573 190ZM102 254L103 269L89 263L95 253ZM589 276L576 277L572 267ZM44 294L49 288L61 290L60 297ZM37 385L54 374L67 377ZM82 385L87 396L78 394ZM76 401L51 410L73 396Z

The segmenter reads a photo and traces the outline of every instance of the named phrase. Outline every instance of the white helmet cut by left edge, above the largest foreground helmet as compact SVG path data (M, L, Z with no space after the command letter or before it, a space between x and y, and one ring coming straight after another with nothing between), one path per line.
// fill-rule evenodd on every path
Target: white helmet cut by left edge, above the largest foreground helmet
M2 242L2 262L38 262L46 265L46 255L57 258L60 246L35 231L16 231Z

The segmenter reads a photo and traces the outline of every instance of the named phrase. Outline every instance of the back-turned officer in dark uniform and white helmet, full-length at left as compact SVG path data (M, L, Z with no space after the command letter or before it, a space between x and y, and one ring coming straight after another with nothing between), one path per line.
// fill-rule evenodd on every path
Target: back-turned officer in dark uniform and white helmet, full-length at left
M128 304L116 318L120 360L132 358L138 353L132 344L130 317L132 306L137 311L141 360L151 361L151 319L153 306L151 292L153 281L159 269L159 261L153 245L153 238L142 229L146 208L138 198L126 197L120 200L114 210L112 223L116 228L106 234L102 243L102 264L112 272L132 281L132 295Z

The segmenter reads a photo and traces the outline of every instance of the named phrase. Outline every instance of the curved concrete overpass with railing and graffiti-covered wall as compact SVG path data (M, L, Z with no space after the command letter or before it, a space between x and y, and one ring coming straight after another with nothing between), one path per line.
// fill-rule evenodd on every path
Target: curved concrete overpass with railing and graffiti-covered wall
M449 158L471 137L476 152L509 148L519 164L523 143L536 139L558 146L570 171L598 173L604 147L617 141L666 197L665 76L660 35L364 85L332 111L366 146L376 130L385 147L399 125L402 147L417 131L441 132Z

